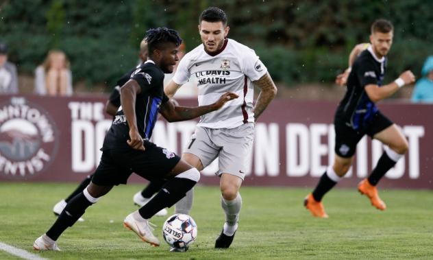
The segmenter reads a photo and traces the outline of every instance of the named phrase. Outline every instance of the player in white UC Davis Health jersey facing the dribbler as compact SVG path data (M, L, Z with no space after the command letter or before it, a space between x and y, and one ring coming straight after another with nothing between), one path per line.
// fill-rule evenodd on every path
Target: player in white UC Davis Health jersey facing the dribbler
M200 105L211 104L221 93L232 91L239 98L200 117L195 133L182 158L199 170L219 157L221 206L225 224L215 241L215 248L228 248L238 228L242 198L240 185L245 177L253 147L254 122L277 93L267 68L249 47L227 38L227 16L219 8L208 8L199 17L199 45L180 61L177 71L165 88L173 97L192 75L197 78ZM260 95L253 105L253 86ZM176 213L189 213L193 193L175 206Z

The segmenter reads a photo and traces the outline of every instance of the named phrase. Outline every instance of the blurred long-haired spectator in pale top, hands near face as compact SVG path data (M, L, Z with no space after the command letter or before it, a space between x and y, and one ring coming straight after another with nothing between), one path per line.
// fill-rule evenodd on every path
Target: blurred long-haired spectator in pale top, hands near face
M35 70L34 93L37 95L72 95L72 73L63 51L49 51Z

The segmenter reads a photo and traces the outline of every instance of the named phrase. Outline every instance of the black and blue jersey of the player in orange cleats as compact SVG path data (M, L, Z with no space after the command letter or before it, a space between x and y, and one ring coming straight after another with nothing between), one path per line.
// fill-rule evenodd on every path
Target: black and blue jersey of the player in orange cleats
M371 46L362 51L347 78L347 92L338 105L336 117L355 130L368 127L373 115L378 113L378 107L369 99L364 88L368 84L382 86L385 69L386 57L379 60L373 56Z

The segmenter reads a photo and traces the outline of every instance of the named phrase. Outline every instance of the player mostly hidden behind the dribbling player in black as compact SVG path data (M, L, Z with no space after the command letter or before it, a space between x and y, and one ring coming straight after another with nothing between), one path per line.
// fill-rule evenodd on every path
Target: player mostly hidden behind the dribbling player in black
M120 95L121 86L123 86L129 80L129 78L131 78L132 73L134 73L136 69L138 69L144 62L146 62L147 52L148 52L147 41L143 39L140 43L140 51L138 53L138 56L140 58L140 64L138 64L136 68L132 69L132 71L129 71L128 73L123 75L122 78L120 78L117 81L116 86L114 87L109 99L106 102L105 110L108 115L112 115L113 117L116 115L119 106L121 106L121 95ZM174 102L173 99L171 99L171 101ZM75 188L75 190L68 197L66 197L64 200L60 200L54 205L53 207L54 215L58 216L60 215L60 213L62 213L64 207L66 206L66 204L68 204L69 200L74 198L78 193L82 192L90 184L90 180L92 180L92 176L93 174L86 176L86 178L82 180L82 182ZM143 189L143 191L138 191L138 193L134 195L133 198L134 203L137 204L138 206L144 206L147 202L149 202L153 194L157 193L161 189L164 183L165 183L164 180L153 180L149 182L149 184L147 185L147 187L145 187L145 189ZM166 209L161 209L155 215L164 216L167 215L167 213L168 211ZM83 222L83 221L84 219L82 217L79 217L78 222Z

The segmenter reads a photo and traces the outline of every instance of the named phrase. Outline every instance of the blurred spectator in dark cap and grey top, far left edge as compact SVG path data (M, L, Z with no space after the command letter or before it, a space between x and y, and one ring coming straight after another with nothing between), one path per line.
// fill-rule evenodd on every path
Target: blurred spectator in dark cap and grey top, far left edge
M18 93L16 67L8 62L8 45L0 43L0 95Z

